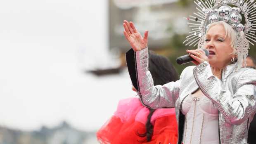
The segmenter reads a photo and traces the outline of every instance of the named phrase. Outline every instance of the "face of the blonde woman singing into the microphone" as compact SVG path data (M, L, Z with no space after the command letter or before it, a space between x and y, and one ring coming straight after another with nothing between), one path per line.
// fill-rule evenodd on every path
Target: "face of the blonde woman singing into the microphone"
M233 49L230 39L224 38L225 29L221 24L212 26L206 33L204 47L209 50L209 63L213 67L223 68L231 61Z

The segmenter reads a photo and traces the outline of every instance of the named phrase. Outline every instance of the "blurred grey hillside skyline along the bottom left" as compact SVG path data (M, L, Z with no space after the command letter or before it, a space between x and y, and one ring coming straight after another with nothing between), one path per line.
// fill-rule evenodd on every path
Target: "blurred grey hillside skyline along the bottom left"
M98 144L95 132L85 132L63 122L53 128L21 131L0 127L0 144Z

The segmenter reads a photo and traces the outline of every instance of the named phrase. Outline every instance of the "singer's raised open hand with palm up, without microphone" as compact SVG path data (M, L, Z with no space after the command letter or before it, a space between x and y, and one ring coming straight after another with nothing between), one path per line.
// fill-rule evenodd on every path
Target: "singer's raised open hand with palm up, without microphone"
M133 48L134 51L140 51L147 47L147 36L148 31L145 31L144 38L142 35L137 31L133 22L128 22L126 20L123 21L124 31L123 34L130 43L130 46Z

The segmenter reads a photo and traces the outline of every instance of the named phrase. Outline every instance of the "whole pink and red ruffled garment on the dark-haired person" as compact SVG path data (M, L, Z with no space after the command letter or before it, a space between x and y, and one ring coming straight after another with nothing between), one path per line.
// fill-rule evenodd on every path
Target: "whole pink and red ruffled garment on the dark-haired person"
M156 119L152 119L154 129L152 140L146 141L146 137L139 137L137 133L144 134L146 132L145 122L142 118L145 113L145 107L138 103L137 99L128 99L128 103L124 101L119 103L116 113L100 130L97 131L97 139L101 144L176 144L178 141L178 126L175 114L171 111L166 115L163 111L155 111ZM120 109L120 106L125 106ZM126 109L126 112L123 111ZM130 110L132 109L132 113ZM171 110L171 109L169 109ZM127 116L127 112L129 115ZM168 111L168 109L165 109ZM142 115L143 112L143 115ZM120 114L121 113L121 114ZM153 114L153 115L154 115ZM147 114L148 115L148 114ZM124 118L125 117L125 118ZM152 116L153 117L153 116Z

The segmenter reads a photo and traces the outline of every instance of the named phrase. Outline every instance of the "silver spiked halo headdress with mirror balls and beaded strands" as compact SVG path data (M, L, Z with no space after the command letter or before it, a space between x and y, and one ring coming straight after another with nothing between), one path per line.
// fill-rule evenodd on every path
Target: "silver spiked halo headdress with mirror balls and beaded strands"
M254 0L194 0L197 12L186 19L192 31L183 42L185 45L198 45L203 48L204 37L209 24L225 21L237 32L235 49L237 53L238 68L242 62L246 64L249 43L256 42L256 1ZM242 15L241 15L242 14ZM243 17L242 17L243 16ZM245 24L241 24L244 19ZM241 34L244 32L244 35Z

